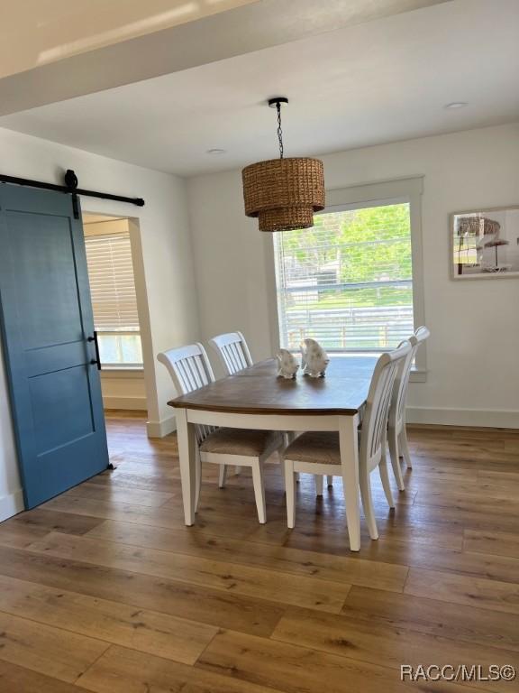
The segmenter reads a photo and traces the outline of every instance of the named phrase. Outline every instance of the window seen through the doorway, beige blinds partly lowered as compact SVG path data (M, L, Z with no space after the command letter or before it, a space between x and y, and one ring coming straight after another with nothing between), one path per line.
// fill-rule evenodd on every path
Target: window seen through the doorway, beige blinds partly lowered
M87 265L101 363L142 365L129 232L87 235Z

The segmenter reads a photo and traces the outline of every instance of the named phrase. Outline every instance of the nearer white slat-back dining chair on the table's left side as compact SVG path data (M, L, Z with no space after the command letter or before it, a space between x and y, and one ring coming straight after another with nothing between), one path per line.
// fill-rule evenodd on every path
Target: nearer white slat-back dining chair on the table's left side
M214 373L205 348L196 342L187 347L169 349L157 356L168 368L178 394L192 393L214 383ZM263 464L273 452L283 448L283 438L269 430L217 428L196 424L196 501L198 506L202 478L201 463L220 465L218 485L225 486L228 465L250 467L260 524L267 522Z

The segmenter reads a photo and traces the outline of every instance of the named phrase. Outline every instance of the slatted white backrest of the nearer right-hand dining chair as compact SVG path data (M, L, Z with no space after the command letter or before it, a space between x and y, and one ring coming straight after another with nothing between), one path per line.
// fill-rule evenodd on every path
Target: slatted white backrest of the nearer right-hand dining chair
M375 366L360 434L360 464L365 464L368 470L382 457L396 374L410 351L411 345L405 341L394 351L382 354Z

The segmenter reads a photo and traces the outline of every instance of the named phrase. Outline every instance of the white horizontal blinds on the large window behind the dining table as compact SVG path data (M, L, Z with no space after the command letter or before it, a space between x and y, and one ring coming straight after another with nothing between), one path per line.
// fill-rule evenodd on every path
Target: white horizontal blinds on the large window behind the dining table
M414 330L409 204L316 215L275 234L281 346L380 352Z

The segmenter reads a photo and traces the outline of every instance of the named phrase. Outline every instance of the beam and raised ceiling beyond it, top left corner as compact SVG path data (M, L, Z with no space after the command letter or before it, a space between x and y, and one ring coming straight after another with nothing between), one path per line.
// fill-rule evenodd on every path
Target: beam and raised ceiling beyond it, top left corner
M344 26L451 1L150 0L136 4L137 0L75 0L65 5L58 0L38 0L35 8L32 8L35 0L11 4L5 13L6 24L15 32L5 35L5 24L0 22L0 115L96 94ZM215 11L236 4L240 6L225 12ZM103 6L103 12L96 11L98 5ZM159 5L169 7L163 13L169 22L179 9L183 10L186 21L164 28L158 21L160 17L164 19L157 14ZM114 15L117 7L121 9L119 16ZM125 24L132 16L135 20L135 9L139 10L137 15L141 20ZM186 9L190 14L186 14ZM214 12L196 18L196 11L207 14L209 9ZM89 10L94 11L89 14ZM26 23L20 21L19 11L26 12ZM187 19L191 14L195 15L194 21ZM13 16L18 16L18 22L12 21ZM47 36L49 28L51 37ZM136 29L144 33L132 35ZM23 60L29 60L33 67L2 78L4 43L7 65L10 61L22 60L23 64ZM42 50L42 45L48 49Z

